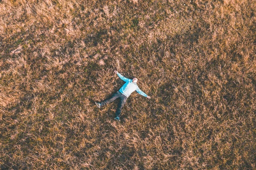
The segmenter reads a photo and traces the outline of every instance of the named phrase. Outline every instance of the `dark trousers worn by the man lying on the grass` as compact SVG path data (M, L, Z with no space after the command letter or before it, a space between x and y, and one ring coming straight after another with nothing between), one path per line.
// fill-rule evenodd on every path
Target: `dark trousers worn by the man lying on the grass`
M101 106L105 106L105 105L115 101L117 98L120 98L120 101L119 101L119 103L117 105L115 117L116 116L118 116L118 117L120 116L122 108L125 106L127 97L125 95L123 95L121 92L117 91L110 98L107 98L104 101L100 102Z

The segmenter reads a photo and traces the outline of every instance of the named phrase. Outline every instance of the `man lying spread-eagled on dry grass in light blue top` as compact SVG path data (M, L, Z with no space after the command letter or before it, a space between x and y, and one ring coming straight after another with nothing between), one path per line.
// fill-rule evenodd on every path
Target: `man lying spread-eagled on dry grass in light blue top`
M140 90L140 88L137 85L138 78L133 78L131 80L129 78L125 78L116 70L115 70L115 73L119 76L119 78L121 78L126 83L119 89L119 91L115 92L111 96L111 98L107 98L104 101L99 102L99 103L95 102L95 104L97 105L97 107L100 108L102 106L105 106L106 104L113 102L117 98L120 98L120 101L119 101L117 109L116 109L115 118L114 118L115 120L120 121L119 116L120 116L121 110L124 107L127 98L129 97L129 95L131 95L132 92L134 92L136 90L136 92L138 92L140 95L145 96L148 99L151 99L151 97L149 97L143 91Z

